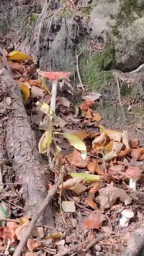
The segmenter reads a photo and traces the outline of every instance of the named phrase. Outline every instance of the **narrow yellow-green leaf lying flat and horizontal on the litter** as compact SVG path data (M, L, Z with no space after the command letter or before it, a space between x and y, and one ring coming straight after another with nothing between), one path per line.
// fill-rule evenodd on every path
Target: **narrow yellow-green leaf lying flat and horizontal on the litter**
M94 175L94 174L88 174L88 173L83 173L83 172L79 172L79 173L71 172L71 173L69 173L69 175L71 175L71 177L73 177L73 178L79 178L85 182L100 181L100 176Z

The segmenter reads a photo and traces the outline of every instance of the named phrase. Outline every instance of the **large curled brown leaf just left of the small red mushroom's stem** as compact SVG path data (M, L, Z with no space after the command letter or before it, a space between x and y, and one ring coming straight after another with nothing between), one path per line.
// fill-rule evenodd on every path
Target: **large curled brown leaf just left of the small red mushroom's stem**
M100 189L99 193L100 195L96 197L96 201L104 209L112 207L117 199L120 199L125 205L128 205L132 201L132 198L123 189L113 187L112 185Z

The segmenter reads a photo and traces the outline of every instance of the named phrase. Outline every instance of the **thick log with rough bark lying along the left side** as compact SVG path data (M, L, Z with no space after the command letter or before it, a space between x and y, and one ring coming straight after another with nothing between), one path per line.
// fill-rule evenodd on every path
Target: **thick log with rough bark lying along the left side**
M8 158L13 159L11 166L15 172L15 181L26 183L21 189L24 212L32 216L46 197L42 159L22 102L20 88L5 69L0 72L0 109L3 114L1 121L4 121L5 151ZM11 98L11 104L8 106L7 97ZM52 211L48 206L40 223L52 224L52 220Z

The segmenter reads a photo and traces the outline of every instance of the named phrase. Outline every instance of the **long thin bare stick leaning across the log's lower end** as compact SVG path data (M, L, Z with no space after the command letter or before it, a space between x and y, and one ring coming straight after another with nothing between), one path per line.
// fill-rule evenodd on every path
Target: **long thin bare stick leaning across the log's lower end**
M17 249L15 250L15 253L13 254L13 256L20 256L21 255L22 249L26 245L26 242L28 241L28 237L30 236L30 233L32 232L32 228L36 224L36 221L38 220L38 218L42 215L42 213L46 209L46 206L48 205L48 203L50 202L52 197L57 192L57 189L59 188L60 183L61 183L61 177L59 177L59 180L57 181L57 183L55 183L55 186L48 191L48 195L46 195L46 198L44 199L44 201L42 202L42 204L40 205L40 207L36 211L36 214L34 214L34 216L32 217L30 225L28 226L28 228L24 232L24 235L22 236L22 239L21 239L19 245L17 246Z

